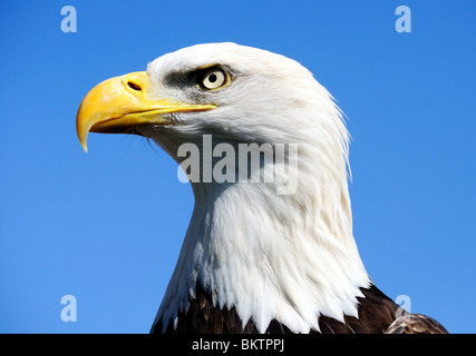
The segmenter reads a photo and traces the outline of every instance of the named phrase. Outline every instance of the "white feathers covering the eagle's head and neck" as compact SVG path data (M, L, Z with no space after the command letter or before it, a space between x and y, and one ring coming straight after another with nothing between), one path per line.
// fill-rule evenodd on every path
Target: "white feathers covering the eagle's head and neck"
M213 65L231 72L229 86L205 92L176 79ZM239 144L268 142L297 144L299 154L293 194L276 194L279 179L192 182L192 220L156 323L175 322L197 283L261 333L272 319L308 333L319 330L320 315L357 316L369 277L352 236L349 136L330 93L297 61L234 43L185 48L157 58L147 72L157 98L216 106L174 113L179 125L142 129L178 162L178 147L202 147L203 135L236 152Z

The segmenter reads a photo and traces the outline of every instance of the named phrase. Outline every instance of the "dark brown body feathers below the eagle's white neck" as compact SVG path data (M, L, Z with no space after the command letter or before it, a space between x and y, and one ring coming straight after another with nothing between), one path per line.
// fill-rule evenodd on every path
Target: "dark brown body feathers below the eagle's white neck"
M363 297L358 297L358 318L344 316L344 323L320 316L320 332L310 334L445 334L447 330L435 319L420 314L407 314L397 318L399 305L381 293L373 285L361 288ZM162 322L150 333L162 333ZM211 295L202 287L196 288L196 298L190 301L187 313L178 314L177 325L167 326L166 334L259 334L252 319L242 325L234 307L231 309L213 305ZM278 320L272 320L265 334L292 334Z

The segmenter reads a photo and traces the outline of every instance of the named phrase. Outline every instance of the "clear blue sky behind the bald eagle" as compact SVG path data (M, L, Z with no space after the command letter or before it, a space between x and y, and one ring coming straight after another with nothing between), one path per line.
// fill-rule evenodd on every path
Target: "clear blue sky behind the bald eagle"
M68 4L76 33L61 31ZM401 4L410 33L395 29ZM149 330L192 189L139 137L93 134L85 154L76 112L99 81L218 41L291 57L330 90L371 278L475 333L475 16L472 0L2 1L0 333ZM76 323L60 318L64 295Z

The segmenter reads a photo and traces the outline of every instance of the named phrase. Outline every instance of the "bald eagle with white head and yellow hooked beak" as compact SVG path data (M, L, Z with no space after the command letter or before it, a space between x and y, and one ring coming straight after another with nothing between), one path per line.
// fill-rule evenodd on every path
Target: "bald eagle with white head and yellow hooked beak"
M352 235L349 135L297 61L235 43L184 48L93 88L76 125L86 151L89 132L152 139L192 184L152 333L446 333L401 313L367 274Z

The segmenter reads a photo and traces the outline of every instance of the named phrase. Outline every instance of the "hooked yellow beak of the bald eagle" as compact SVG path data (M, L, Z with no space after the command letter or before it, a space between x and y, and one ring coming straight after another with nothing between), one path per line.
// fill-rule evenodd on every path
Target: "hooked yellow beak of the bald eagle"
M86 152L89 132L130 134L139 125L172 123L163 113L216 108L149 99L149 85L148 75L138 71L103 81L87 93L76 116L76 131Z

